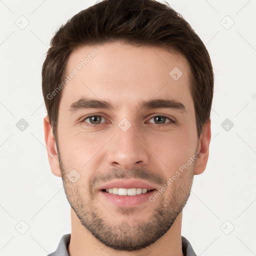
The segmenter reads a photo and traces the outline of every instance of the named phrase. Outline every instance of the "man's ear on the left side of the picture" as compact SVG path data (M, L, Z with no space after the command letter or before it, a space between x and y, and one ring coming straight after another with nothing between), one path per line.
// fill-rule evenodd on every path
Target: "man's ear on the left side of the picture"
M52 133L52 128L50 125L48 115L46 115L43 118L43 126L44 126L44 140L47 148L47 154L48 154L48 160L49 160L51 172L54 175L61 177L56 141Z

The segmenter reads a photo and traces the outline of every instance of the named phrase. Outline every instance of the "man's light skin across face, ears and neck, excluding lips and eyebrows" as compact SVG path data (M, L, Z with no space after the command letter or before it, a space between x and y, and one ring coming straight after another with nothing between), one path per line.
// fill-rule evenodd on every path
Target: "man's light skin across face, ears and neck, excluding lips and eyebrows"
M188 87L189 65L184 56L174 51L170 53L161 48L115 41L76 48L68 59L66 74L95 48L99 50L95 57L62 88L57 124L59 152L49 118L47 115L44 118L51 171L62 176L67 199L76 209L75 213L71 208L68 253L71 256L183 255L182 207L189 196L193 175L202 173L206 167L211 137L210 120L203 125L200 138L197 137L193 100ZM183 73L176 81L169 75L174 67ZM81 97L104 100L114 108L69 111L70 105ZM156 98L181 102L185 111L139 107L141 100ZM93 114L104 118L97 126L88 126L93 124L85 118ZM175 122L166 118L163 125L153 118L155 115L166 116ZM126 131L118 126L123 118L131 124ZM143 180L142 174L149 173L151 180L145 180L158 190L196 151L200 151L196 161L154 202L146 200L134 207L117 207L105 200L97 189L104 184L100 177L116 170L116 173L124 175L124 179ZM61 158L60 166L58 157ZM67 178L72 169L80 175L74 183ZM137 176L139 171L142 173L140 177ZM92 183L93 178L97 182ZM162 178L162 185L156 182L157 178ZM113 179L117 176L112 175L107 181ZM162 230L163 233L151 244L133 251L106 246L82 225L77 216L93 223L93 211L104 224L99 235L103 236L105 226L109 232L115 232L117 241L129 237L128 240L135 243L149 239L150 230L139 233L139 236L135 231L151 223L159 209L165 215L158 215L157 219L162 221L166 230Z

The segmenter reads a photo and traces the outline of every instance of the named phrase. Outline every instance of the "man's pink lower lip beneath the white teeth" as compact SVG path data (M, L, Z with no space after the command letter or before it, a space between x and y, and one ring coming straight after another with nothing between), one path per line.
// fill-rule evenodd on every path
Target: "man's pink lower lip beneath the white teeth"
M118 194L111 194L105 191L99 191L105 199L111 201L113 204L119 207L132 207L137 206L145 201L149 202L149 197L155 193L155 189L151 190L144 194L136 194L136 195L118 195Z

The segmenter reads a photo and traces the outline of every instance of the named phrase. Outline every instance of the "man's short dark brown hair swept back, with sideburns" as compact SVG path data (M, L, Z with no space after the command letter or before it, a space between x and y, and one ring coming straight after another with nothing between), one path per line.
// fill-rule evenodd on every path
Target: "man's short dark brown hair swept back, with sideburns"
M102 0L62 25L52 37L42 66L42 92L56 139L61 91L51 92L63 80L72 50L81 45L122 40L134 45L176 50L189 62L197 136L210 118L213 70L206 47L183 17L156 0Z

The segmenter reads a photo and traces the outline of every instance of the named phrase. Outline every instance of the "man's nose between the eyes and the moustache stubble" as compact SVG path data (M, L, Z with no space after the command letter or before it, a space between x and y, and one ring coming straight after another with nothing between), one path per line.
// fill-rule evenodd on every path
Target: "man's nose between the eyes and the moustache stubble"
M107 148L108 163L116 168L130 169L148 163L149 152L145 145L145 137L135 129L134 125L123 131L119 127Z

